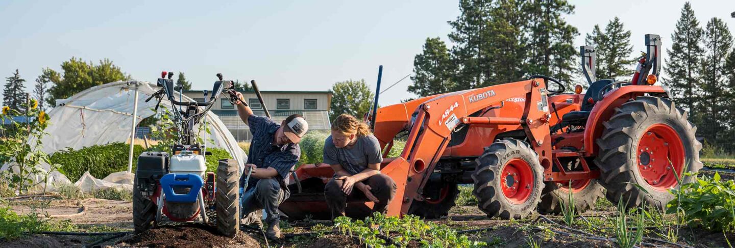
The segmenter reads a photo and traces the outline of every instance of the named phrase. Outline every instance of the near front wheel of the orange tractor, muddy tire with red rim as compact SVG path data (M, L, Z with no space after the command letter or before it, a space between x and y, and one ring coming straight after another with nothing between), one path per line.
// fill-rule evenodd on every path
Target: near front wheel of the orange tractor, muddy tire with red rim
M494 142L475 161L473 194L488 217L522 219L536 209L544 189L543 167L528 143Z

